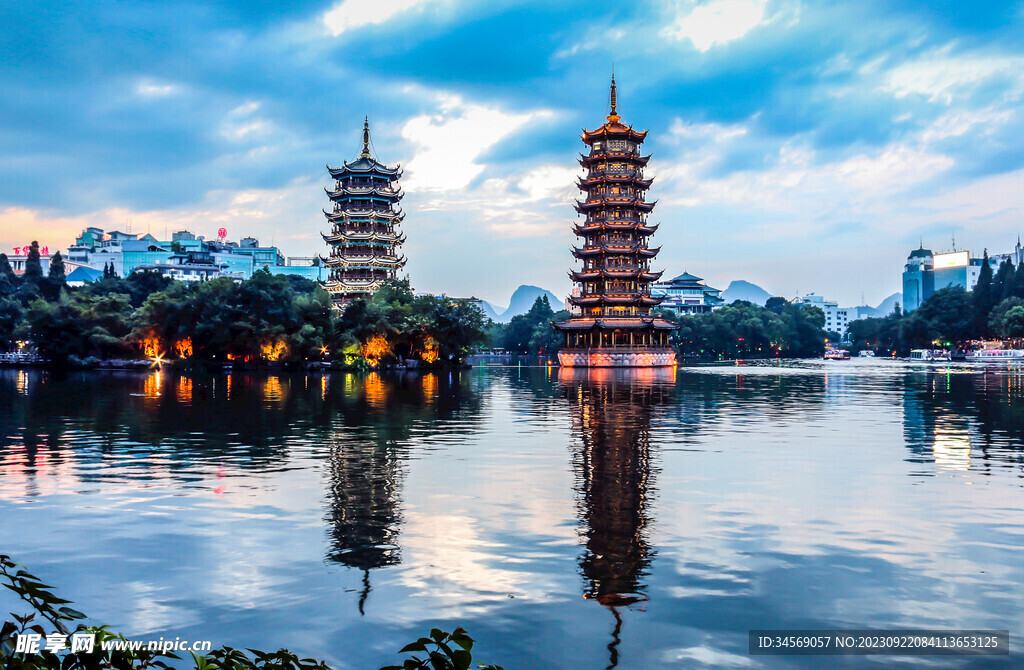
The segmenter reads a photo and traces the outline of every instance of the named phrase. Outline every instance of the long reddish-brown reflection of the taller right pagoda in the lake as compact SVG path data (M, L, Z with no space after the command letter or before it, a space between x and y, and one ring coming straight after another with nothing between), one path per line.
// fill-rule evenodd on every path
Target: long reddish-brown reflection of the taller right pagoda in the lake
M584 552L584 597L614 617L609 668L618 664L620 609L647 599L644 577L653 557L647 537L654 469L650 424L671 402L675 370L561 368L558 381L571 404L573 469Z

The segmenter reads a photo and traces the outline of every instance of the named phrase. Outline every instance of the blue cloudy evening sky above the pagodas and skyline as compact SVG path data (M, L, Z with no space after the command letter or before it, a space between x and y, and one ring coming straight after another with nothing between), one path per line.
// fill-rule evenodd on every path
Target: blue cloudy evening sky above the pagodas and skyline
M1024 228L1024 1L0 5L0 251L88 225L326 253L369 116L419 291L564 295L584 128L649 130L654 261L843 304Z

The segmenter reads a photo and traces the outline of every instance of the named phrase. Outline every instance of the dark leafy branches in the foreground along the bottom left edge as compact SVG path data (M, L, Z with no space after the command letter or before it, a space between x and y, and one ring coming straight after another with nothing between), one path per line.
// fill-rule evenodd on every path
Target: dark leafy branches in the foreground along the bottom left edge
M13 621L5 621L0 627L0 668L4 670L170 670L162 659L179 659L168 652L112 644L128 640L124 635L111 632L108 626L80 623L72 630L72 622L86 616L69 608L70 600L55 595L52 586L44 584L6 554L0 554L0 580L5 588L16 593L34 611L27 615L11 613ZM37 615L40 617L38 620ZM53 630L47 631L44 623L48 623ZM17 651L18 635L26 634L39 635L47 642L55 637L61 643L69 636L86 634L94 636L94 644L89 651L72 651L63 656L57 656L49 648L30 654ZM462 628L456 628L452 633L434 628L430 637L421 637L399 652L421 652L427 655L425 658L414 656L400 666L387 666L381 670L467 670L473 662L472 648L473 638ZM300 659L284 648L276 652L246 651L249 654L222 646L205 656L193 653L193 665L196 670L331 670L323 661ZM503 670L496 665L477 664L480 670Z

